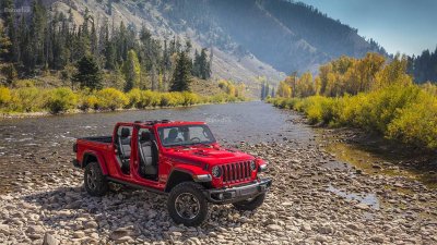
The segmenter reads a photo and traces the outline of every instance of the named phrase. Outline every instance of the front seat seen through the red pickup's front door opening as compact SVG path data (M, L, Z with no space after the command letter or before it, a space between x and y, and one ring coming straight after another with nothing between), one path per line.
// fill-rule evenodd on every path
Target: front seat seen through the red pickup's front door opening
M141 155L141 174L144 176L156 175L157 161L154 154L154 143L152 140L151 133L147 131L141 133L139 151Z

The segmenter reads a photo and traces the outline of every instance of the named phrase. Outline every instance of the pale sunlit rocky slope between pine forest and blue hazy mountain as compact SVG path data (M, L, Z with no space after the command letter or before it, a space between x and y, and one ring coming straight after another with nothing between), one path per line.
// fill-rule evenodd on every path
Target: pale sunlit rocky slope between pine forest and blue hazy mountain
M78 24L83 22L82 14L85 12L85 9L88 9L91 14L96 16L97 20L107 19L116 26L121 21L125 24L137 26L137 29L140 29L141 25L145 25L154 37L158 39L168 39L176 35L182 40L187 38L191 39L193 49L199 50L202 47L213 48L212 73L214 78L244 82L256 88L258 86L253 84L253 81L258 76L269 77L273 82L285 77L284 73L260 61L252 54L239 56L229 50L224 50L218 46L201 41L199 35L191 28L179 29L177 22L165 16L166 11L169 10L168 8L174 7L173 4L167 5L161 1L113 1L111 10L109 11L107 1L71 0L55 1L51 7L54 11L62 11L66 14L71 8ZM108 14L109 12L110 14Z

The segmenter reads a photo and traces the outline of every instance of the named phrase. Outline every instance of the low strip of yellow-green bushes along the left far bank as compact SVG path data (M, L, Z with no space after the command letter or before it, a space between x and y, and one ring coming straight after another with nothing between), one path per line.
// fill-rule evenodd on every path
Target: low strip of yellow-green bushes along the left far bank
M246 100L226 93L201 96L189 91L158 93L132 89L122 93L116 88L102 90L72 90L68 87L38 88L0 87L0 112L3 114L69 111L144 109L160 107L192 106L199 103L223 103Z

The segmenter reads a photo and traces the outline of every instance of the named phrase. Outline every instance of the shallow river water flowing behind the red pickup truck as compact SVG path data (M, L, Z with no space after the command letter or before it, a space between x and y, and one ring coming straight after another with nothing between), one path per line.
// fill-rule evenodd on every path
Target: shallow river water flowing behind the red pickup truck
M70 164L78 137L110 135L117 122L137 120L205 121L217 140L227 145L246 142L311 140L315 135L288 111L260 101L205 105L188 108L83 113L0 121L0 186L20 188L23 176L49 175Z

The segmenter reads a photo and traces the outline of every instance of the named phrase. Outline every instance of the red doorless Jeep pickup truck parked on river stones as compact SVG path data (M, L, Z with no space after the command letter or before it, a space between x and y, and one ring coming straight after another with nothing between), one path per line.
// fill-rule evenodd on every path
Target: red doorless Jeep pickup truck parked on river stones
M203 122L117 123L113 136L79 138L73 150L90 195L108 182L166 194L169 216L185 225L201 224L209 203L253 210L272 183L258 176L265 161L221 147Z

